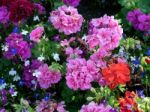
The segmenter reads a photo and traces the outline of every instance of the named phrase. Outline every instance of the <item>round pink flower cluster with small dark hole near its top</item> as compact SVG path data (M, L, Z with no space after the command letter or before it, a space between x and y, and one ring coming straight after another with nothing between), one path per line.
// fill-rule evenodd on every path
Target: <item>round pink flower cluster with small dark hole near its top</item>
M83 17L76 8L64 5L51 12L49 21L59 32L70 35L80 31Z

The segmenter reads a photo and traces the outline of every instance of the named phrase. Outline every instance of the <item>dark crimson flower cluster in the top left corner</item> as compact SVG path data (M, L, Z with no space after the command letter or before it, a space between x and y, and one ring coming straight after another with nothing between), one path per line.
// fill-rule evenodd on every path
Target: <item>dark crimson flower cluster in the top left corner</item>
M33 4L29 0L13 0L10 5L10 20L19 22L29 16L33 12Z

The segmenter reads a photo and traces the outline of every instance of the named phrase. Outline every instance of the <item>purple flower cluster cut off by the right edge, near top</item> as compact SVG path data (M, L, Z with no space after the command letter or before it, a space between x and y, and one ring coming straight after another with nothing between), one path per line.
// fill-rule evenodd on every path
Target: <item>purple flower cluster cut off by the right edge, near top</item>
M135 29L141 31L150 30L150 14L144 14L140 9L128 12L127 20Z

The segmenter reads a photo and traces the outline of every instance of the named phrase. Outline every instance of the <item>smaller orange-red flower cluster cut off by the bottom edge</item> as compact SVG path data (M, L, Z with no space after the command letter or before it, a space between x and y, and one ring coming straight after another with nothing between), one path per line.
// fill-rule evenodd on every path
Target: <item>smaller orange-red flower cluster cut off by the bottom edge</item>
M138 109L136 102L137 95L134 92L126 91L125 98L120 98L120 112L142 112Z

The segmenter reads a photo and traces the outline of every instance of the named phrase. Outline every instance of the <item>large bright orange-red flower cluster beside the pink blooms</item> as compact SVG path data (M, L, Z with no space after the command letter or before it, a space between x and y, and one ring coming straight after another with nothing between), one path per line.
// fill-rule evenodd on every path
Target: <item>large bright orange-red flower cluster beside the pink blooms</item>
M111 63L109 67L102 69L102 74L111 89L130 81L130 69L126 63Z

